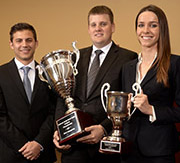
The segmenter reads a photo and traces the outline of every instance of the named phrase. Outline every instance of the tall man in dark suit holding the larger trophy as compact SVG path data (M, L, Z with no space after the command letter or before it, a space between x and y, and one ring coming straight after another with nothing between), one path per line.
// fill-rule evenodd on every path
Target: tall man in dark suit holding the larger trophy
M113 13L108 7L96 6L90 10L88 32L93 46L80 50L73 98L77 108L92 115L94 125L85 128L90 134L77 139L77 145L59 145L59 137L55 131L54 143L56 147L65 151L62 154L63 163L120 161L120 155L105 155L98 152L100 140L104 134L112 130L112 122L107 118L107 113L101 104L101 87L107 82L111 85L111 90L120 91L122 65L136 57L136 53L120 48L112 41L114 31ZM98 71L93 81L90 74L94 66L93 60L96 60L96 55L98 55L96 50L101 50L101 52L99 68L92 73L94 76ZM65 111L64 103L59 99L55 118L63 116Z

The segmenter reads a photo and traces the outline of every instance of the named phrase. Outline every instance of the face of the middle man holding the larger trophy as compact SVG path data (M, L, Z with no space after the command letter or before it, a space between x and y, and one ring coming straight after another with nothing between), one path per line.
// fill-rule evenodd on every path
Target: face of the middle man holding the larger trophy
M89 16L88 32L93 44L102 48L109 44L115 25L111 23L108 14L96 14Z

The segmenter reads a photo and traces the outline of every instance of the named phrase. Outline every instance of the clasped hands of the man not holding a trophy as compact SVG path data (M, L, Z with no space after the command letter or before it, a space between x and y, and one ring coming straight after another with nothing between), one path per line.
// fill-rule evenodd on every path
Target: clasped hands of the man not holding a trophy
M36 160L40 156L41 146L36 141L27 142L19 152L28 160Z

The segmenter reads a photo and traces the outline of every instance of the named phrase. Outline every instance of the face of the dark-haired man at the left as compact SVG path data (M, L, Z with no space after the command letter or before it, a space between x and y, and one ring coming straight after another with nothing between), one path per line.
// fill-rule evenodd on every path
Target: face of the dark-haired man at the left
M30 30L15 32L12 42L10 41L10 47L14 51L16 59L23 64L28 64L33 60L37 46L38 42L35 41Z

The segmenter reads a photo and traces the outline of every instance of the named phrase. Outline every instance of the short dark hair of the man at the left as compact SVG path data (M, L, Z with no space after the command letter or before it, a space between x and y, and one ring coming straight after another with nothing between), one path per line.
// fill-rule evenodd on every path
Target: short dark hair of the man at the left
M37 34L34 29L34 27L28 23L17 23L11 27L11 30L9 32L10 40L13 41L13 34L17 31L23 31L23 30L30 30L33 33L34 40L37 41Z

